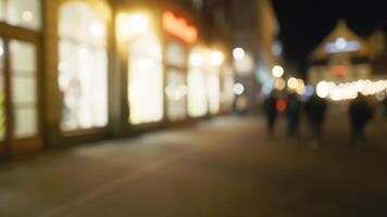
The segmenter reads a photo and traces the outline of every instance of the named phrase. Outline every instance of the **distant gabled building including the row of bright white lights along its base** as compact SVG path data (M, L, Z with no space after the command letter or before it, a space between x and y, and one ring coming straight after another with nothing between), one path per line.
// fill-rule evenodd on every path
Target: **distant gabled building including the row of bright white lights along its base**
M360 37L341 20L310 56L309 82L322 98L344 101L386 95L385 36Z

